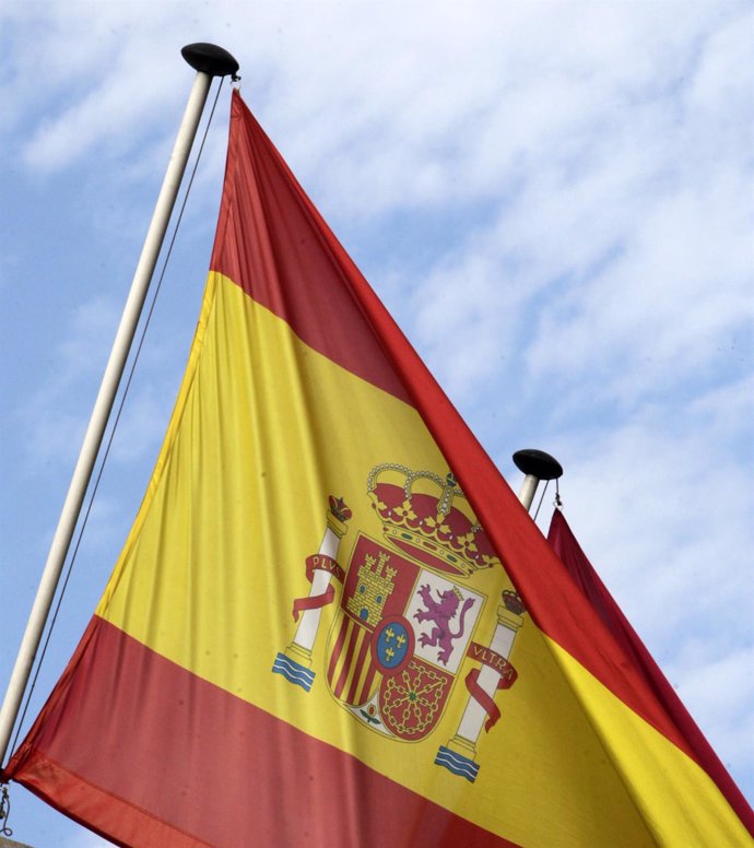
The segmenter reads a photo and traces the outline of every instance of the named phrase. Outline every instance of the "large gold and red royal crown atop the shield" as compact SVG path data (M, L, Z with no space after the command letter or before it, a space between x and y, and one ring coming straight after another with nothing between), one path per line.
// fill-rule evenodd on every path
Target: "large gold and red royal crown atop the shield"
M452 474L386 462L367 479L385 538L431 568L469 577L500 561Z

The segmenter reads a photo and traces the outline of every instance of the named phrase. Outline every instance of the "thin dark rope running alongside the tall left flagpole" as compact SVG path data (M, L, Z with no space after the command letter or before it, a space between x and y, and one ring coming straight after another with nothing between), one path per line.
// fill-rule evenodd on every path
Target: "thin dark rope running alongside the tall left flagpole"
M175 227L173 228L173 234L172 234L170 239L168 242L167 251L165 252L165 258L163 260L163 264L162 264L162 269L161 269L161 272L160 272L160 276L157 278L156 286L154 287L154 294L152 296L149 309L146 311L146 318L144 319L143 327L142 327L142 330L141 330L141 334L140 334L139 341L137 343L136 352L134 352L132 361L131 361L131 366L130 366L130 370L128 373L128 377L126 379L126 385L125 385L125 388L123 388L123 390L121 392L121 396L120 396L120 401L118 403L116 415L115 415L115 419L113 420L113 425L110 427L110 432L109 432L107 441L105 444L105 450L103 452L102 461L99 463L99 468L98 468L97 473L96 473L95 479L94 479L94 485L92 486L92 493L90 495L89 503L86 505L86 509L84 510L83 520L81 522L81 527L80 527L79 533L76 535L75 544L73 545L73 552L72 552L72 554L70 556L70 560L69 560L69 563L68 563L68 568L66 569L66 575L63 577L63 581L62 581L62 586L60 588L60 592L58 593L58 599L57 599L57 602L55 604L55 610L52 612L52 615L50 616L50 623L49 623L49 626L47 628L47 634L45 636L45 640L43 643L42 652L39 653L39 659L36 661L36 668L35 668L35 671L34 671L34 675L32 676L31 685L28 686L28 688L26 691L26 694L25 694L24 706L23 706L23 709L21 711L21 718L16 722L15 734L13 735L13 742L12 742L11 749L10 749L11 752L15 751L15 746L16 746L16 743L19 741L19 737L21 734L21 728L23 727L24 720L26 718L26 712L28 710L28 706L30 706L31 700L32 700L32 695L34 694L34 688L35 688L35 686L37 684L37 679L39 676L39 671L42 670L42 664L43 664L43 662L45 660L45 656L47 653L47 648L48 648L49 643L50 643L50 637L52 636L52 631L55 629L55 624L56 624L56 622L58 620L58 613L60 612L62 600L63 600L63 597L66 594L66 589L68 588L68 581L69 581L69 579L71 577L71 573L73 570L73 564L75 563L76 555L78 555L79 549L81 546L81 541L82 541L82 538L83 538L83 534L84 534L84 530L86 529L86 523L89 521L89 517L90 517L90 514L92 511L92 507L94 505L94 498L95 498L95 496L97 494L97 490L99 487L99 482L102 480L102 475L103 475L104 470L105 470L105 464L107 462L107 458L109 456L110 448L113 446L113 441L114 441L114 438L115 438L115 433L116 433L116 431L118 428L118 423L120 421L120 416L121 416L122 411L123 411L123 405L126 403L126 398L128 397L128 392L129 392L129 389L131 387L131 382L133 380L133 375L136 373L137 363L139 362L139 356L141 354L141 350L142 350L142 348L144 345L144 340L146 338L146 331L149 330L150 322L152 320L152 315L154 313L155 305L157 303L157 296L160 295L160 290L162 288L163 280L165 279L165 273L167 271L167 266L168 266L168 262L170 260L170 256L173 255L173 248L175 246L176 238L178 236L178 229L180 227L180 223L181 223L181 221L184 219L184 212L186 211L186 205L187 205L187 202L188 202L189 195L191 192L191 187L193 186L193 180L195 180L195 177L197 176L197 170L199 168L199 162L201 161L202 152L204 151L204 144L205 144L207 138L209 136L210 127L212 126L212 118L214 117L215 108L217 106L217 101L220 99L220 93L222 91L222 86L223 86L223 78L221 78L221 80L220 80L220 85L217 86L217 93L215 94L215 98L214 98L214 102L212 104L212 109L210 110L210 117L209 117L209 119L207 121L207 126L204 128L204 133L203 133L202 139L201 139L201 144L199 145L199 151L197 153L197 157L196 157L196 161L193 163L193 168L191 169L191 174L189 176L189 181L188 181L188 185L186 187L186 191L184 193L184 199L182 199L182 202L180 204L180 209L178 211L178 217L176 220Z

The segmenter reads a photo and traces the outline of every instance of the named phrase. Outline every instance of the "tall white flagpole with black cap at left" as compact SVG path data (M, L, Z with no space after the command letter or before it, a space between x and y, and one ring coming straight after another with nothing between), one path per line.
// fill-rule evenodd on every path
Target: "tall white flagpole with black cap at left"
M71 539L75 531L81 506L92 476L123 368L126 367L126 361L137 331L146 292L152 281L152 274L157 263L157 257L165 238L165 232L175 205L180 181L186 170L186 163L188 162L191 145L204 109L212 78L227 76L228 74L235 75L238 70L238 62L233 56L214 45L188 45L184 47L181 54L191 68L197 71L197 75L178 129L165 179L157 197L141 257L133 274L131 290L126 301L126 307L113 343L110 357L105 368L105 376L94 403L81 454L73 470L73 476L71 478L68 495L60 514L58 528L52 538L52 544L50 545L47 563L45 564L39 588L37 589L26 625L26 632L24 633L2 709L0 710L0 763L4 761L21 702L26 691L45 623L47 622L52 599L60 580L60 573L62 572Z

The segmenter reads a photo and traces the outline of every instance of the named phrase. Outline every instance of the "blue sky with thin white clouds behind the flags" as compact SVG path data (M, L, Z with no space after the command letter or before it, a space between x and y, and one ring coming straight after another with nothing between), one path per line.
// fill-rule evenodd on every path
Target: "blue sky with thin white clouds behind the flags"
M7 0L4 688L192 72L241 94L508 481L582 546L754 799L754 7ZM229 90L34 697L139 505L212 243ZM550 493L540 525L549 520ZM102 840L13 790L34 846Z

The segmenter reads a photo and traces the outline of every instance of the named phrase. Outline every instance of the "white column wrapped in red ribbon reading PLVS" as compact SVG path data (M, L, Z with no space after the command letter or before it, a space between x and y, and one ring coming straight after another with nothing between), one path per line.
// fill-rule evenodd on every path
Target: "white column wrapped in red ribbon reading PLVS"
M311 584L309 594L293 602L293 617L298 622L293 641L275 657L272 671L282 674L290 683L311 688L315 672L311 670L311 651L319 631L322 606L332 603L335 590L331 581L343 581L344 573L338 564L338 549L347 531L351 509L342 498L330 497L327 529L319 551L306 560L306 577Z

